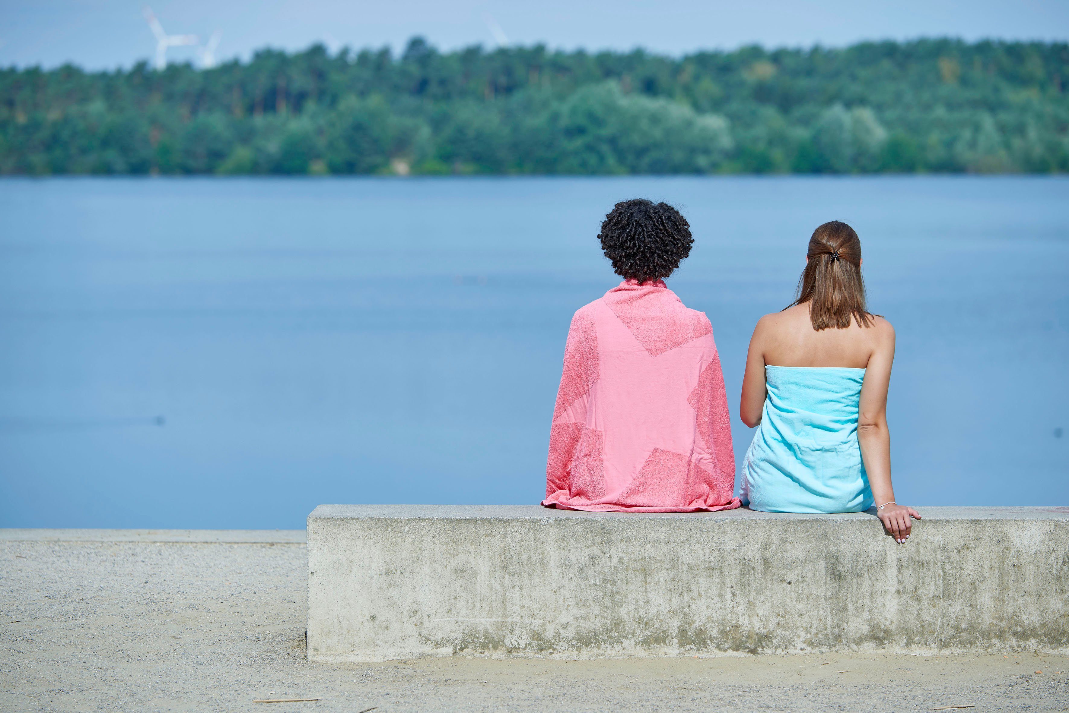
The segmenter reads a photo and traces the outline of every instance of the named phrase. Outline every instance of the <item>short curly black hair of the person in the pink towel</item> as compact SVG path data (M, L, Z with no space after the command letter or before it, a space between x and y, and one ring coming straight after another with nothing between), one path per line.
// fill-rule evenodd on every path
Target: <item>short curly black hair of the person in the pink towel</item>
M670 275L694 244L691 225L678 210L646 199L617 203L598 239L613 271L639 283Z

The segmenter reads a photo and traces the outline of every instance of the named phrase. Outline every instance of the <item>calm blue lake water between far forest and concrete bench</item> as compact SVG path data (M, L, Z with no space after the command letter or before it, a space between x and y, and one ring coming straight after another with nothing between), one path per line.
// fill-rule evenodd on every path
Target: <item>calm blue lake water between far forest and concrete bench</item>
M0 180L0 525L303 527L320 503L537 503L613 204L697 238L668 284L729 400L818 224L898 331L898 501L1069 504L1069 180ZM752 431L734 422L741 459Z

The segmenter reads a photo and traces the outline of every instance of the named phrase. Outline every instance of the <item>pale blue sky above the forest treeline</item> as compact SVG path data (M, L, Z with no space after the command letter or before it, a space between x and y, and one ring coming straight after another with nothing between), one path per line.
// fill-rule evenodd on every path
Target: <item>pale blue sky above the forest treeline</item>
M0 0L0 66L74 61L91 68L150 59L155 41L139 0ZM443 49L497 42L647 49L847 45L859 39L951 35L966 39L1069 38L1066 0L149 0L169 34L206 41L222 31L219 59L267 45L298 49L404 46L420 34ZM493 18L487 21L487 16ZM501 35L497 35L500 39ZM193 48L169 50L195 60Z

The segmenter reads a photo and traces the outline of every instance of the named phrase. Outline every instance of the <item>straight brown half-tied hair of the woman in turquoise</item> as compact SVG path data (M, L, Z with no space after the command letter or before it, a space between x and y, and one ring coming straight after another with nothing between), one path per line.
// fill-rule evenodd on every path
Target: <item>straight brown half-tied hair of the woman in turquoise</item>
M809 319L818 332L847 329L854 318L862 327L871 327L872 315L865 308L862 241L854 228L837 220L824 223L812 232L806 257L797 298L787 306L809 302Z

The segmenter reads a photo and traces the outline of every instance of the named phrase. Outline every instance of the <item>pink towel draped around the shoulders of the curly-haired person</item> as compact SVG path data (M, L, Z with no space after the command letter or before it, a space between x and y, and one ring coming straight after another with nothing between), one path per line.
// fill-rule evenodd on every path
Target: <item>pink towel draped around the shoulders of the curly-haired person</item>
M737 508L729 424L704 313L661 281L624 281L572 318L542 505Z

